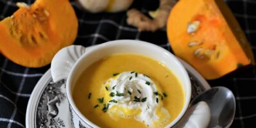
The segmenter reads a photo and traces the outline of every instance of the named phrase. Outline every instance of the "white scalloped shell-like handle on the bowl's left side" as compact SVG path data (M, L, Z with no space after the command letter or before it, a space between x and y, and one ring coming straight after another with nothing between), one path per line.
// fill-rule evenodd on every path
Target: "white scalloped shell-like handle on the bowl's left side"
M81 45L71 45L58 51L51 61L51 76L53 82L67 79L69 71L74 63L85 53L85 47Z

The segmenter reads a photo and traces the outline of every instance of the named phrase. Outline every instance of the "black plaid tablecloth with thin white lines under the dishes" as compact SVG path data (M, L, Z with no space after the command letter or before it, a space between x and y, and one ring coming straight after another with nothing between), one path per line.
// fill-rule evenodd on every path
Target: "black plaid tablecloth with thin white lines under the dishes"
M30 0L0 0L0 20L12 15L17 10L15 3L21 1L33 3ZM78 36L74 42L76 45L90 46L110 40L135 39L151 42L171 51L166 31L140 32L128 26L125 12L92 14L81 11L73 1L71 3L79 19ZM256 1L227 0L226 3L241 24L256 56ZM145 10L139 0L132 6ZM0 127L26 127L28 99L37 81L49 68L49 65L42 68L21 67L0 54ZM255 67L208 82L210 86L230 88L234 93L236 113L231 127L256 127Z

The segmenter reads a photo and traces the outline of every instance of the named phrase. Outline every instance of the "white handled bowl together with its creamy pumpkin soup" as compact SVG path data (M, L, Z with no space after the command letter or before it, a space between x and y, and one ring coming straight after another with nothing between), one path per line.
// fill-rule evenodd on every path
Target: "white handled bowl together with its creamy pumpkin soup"
M115 40L87 50L71 45L51 63L53 81L66 79L74 127L172 127L191 99L180 61L162 47Z

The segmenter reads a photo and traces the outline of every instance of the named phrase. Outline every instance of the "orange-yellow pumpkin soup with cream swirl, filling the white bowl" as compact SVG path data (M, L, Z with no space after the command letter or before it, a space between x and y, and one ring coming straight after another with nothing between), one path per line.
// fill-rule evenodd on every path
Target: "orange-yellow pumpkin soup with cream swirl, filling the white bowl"
M176 76L138 54L96 61L76 81L73 97L81 113L99 127L164 127L184 104Z

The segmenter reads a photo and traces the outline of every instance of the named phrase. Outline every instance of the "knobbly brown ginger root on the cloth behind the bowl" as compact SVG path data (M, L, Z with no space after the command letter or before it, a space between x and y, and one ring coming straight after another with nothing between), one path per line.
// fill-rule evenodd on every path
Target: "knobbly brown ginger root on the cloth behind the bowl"
M127 23L137 27L139 31L156 31L157 29L162 29L166 26L169 12L175 3L175 0L160 0L157 15L153 19L150 19L139 10L128 10Z

